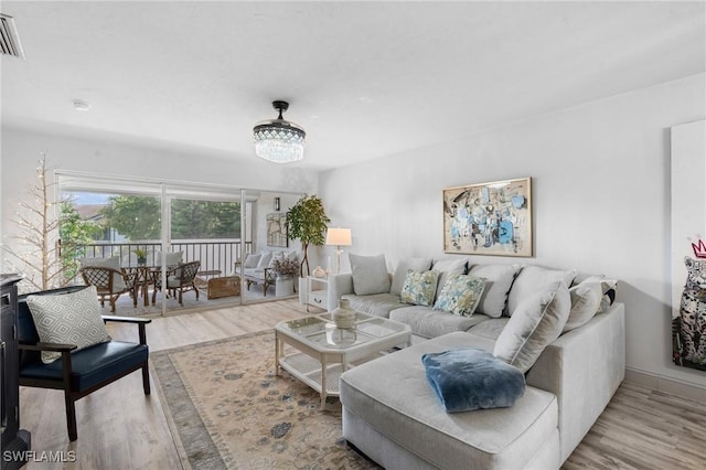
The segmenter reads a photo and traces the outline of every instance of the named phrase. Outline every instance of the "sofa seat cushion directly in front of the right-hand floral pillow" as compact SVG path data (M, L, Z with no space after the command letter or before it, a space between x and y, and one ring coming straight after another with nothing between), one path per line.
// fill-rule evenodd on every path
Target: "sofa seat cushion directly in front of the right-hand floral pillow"
M411 333L422 338L436 338L456 331L467 331L489 318L483 314L461 317L432 310L429 307L406 306L389 311L389 319L408 324Z

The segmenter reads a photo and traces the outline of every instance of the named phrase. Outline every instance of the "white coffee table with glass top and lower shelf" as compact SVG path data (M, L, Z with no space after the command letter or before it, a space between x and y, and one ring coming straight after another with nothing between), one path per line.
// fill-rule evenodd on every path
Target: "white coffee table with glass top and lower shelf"
M279 367L321 394L339 396L341 373L386 350L409 345L409 325L356 312L355 327L339 329L330 313L282 321L275 327L275 370ZM285 344L296 350L285 354Z

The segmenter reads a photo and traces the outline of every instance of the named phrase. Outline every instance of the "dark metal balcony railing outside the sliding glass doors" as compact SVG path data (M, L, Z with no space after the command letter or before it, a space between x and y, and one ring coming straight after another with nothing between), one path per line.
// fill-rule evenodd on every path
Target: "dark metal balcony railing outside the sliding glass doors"
M201 261L202 271L221 271L228 274L234 269L235 261L240 253L240 245L245 246L245 253L253 252L252 242L240 242L239 239L225 241L174 241L171 243L170 252L182 252L182 261ZM148 266L157 266L158 253L161 252L161 244L157 242L145 243L94 243L79 245L87 258L109 258L120 257L122 267L137 266L136 249L147 253Z

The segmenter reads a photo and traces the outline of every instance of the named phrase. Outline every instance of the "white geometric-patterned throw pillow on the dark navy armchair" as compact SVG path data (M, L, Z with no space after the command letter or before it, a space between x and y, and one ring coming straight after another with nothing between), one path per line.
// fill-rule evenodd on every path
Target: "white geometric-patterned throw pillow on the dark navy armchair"
M30 295L26 305L43 343L76 344L81 350L111 340L95 286L68 293ZM58 357L61 353L42 351L45 364Z

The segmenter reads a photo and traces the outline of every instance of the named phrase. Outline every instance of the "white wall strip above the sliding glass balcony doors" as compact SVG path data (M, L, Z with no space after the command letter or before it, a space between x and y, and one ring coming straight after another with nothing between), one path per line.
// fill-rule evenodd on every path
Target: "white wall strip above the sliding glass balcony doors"
M256 190L315 193L315 172L269 163L253 156L224 156L184 152L163 148L135 147L115 140L88 140L15 128L2 128L1 211L3 229L12 229L9 220L35 183L41 152L47 164L62 171L83 171L106 175L150 178L161 181L211 183Z

